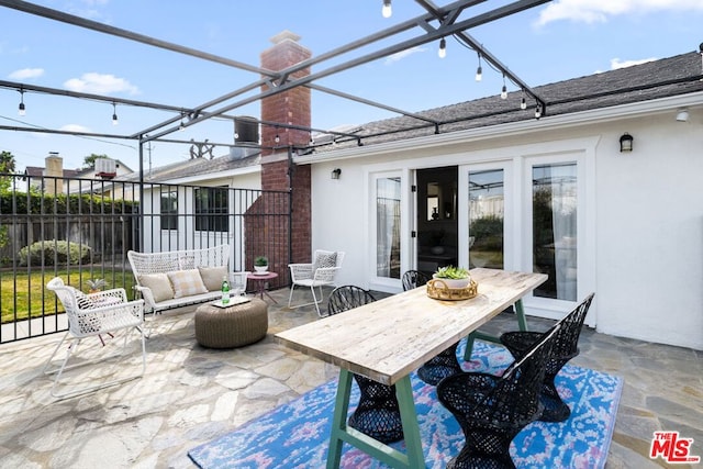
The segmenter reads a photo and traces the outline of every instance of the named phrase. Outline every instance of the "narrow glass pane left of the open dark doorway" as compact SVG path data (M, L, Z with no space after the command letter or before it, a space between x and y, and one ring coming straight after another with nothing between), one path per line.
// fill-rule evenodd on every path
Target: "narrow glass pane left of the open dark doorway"
M400 178L376 180L376 275L400 279Z

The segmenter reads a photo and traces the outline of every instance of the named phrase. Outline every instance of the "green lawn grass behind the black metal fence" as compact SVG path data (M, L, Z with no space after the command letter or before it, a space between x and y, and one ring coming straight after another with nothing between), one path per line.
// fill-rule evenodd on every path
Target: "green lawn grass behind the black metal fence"
M120 271L102 271L110 288L124 288L127 298L132 298L134 277L131 272L123 275ZM46 283L54 277L60 277L64 282L75 288L88 292L86 281L91 279L90 272L85 268L59 269L57 271L7 271L0 272L0 312L1 322L11 323L31 317L42 317L44 315L63 312L62 304L56 299L53 291L46 288ZM94 277L94 276L93 276Z

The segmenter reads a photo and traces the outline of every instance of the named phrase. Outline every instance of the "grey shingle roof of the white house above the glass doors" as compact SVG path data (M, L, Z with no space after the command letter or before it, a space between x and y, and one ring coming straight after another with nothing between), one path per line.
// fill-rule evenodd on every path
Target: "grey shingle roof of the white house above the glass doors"
M688 53L544 85L533 91L546 103L544 115L558 115L703 91L702 76L701 54ZM528 109L522 110L522 92L513 91L506 100L493 96L417 112L437 122L436 126L432 122L401 116L359 125L353 133L362 137L364 145L370 145L534 120L536 103L527 101ZM320 139L316 137L315 141ZM311 150L326 153L356 145L357 139L343 137L334 146L323 145Z

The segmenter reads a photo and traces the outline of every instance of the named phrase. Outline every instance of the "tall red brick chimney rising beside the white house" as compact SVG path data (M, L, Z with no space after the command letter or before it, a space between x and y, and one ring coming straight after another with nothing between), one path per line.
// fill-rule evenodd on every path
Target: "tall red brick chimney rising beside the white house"
M312 52L301 46L298 43L299 40L300 36L290 31L283 31L271 37L274 46L261 53L261 68L280 71L312 57ZM308 75L310 75L310 68L304 68L291 75L290 79ZM261 91L266 90L268 87L264 86ZM310 127L312 121L310 89L297 87L264 98L261 100L261 120ZM279 136L278 143L276 143L276 135ZM283 250L288 245L288 227L281 231L280 227L266 226L264 232L259 232L276 233L276 243L280 243L280 246L277 247L277 253L268 253L269 263L271 257L280 263L279 266L274 265L272 267L283 278L288 277L287 263L310 263L312 257L310 165L292 166L288 155L289 145L305 146L309 142L309 131L277 129L270 125L261 126L261 146L264 147L261 150L261 189L286 192L290 190L292 197L291 258L288 259L288 253ZM271 149L271 147L279 148ZM263 202L265 205L269 205L266 209L277 210L277 212L268 213L280 213L280 208L272 206L276 203ZM274 264L277 264L277 260L274 260Z

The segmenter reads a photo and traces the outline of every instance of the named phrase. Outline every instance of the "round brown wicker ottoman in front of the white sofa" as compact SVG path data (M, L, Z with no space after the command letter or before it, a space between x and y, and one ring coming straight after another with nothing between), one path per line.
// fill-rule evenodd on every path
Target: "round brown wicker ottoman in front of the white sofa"
M258 298L228 308L203 304L196 310L196 340L203 347L234 348L266 337L268 304Z

